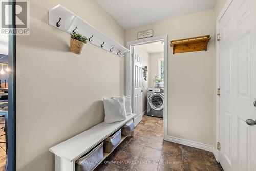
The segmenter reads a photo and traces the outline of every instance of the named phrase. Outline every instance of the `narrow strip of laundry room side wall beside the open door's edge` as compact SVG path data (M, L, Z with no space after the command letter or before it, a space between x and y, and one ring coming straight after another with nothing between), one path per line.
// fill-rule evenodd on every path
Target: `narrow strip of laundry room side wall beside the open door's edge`
M141 48L140 46L135 46L135 48L141 53L142 55L142 66L143 68L147 66L147 68L150 66L150 54ZM150 74L150 71L147 72L147 80L144 80L144 77L142 79L142 90L143 90L143 98L142 98L142 112L146 112L147 109L147 88L149 85L149 79L148 76ZM146 113L144 113L146 114Z

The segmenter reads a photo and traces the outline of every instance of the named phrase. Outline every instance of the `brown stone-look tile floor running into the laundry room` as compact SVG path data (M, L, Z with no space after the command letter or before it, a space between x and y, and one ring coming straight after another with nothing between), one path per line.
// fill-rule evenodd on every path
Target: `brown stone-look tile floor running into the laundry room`
M135 136L127 137L96 170L221 171L211 152L163 141L163 119L143 116Z

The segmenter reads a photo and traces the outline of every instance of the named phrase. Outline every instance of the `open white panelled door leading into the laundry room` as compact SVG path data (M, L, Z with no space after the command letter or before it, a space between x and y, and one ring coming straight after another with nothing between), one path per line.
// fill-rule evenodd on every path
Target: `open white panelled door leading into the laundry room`
M132 54L132 108L133 113L136 114L134 118L134 124L136 126L142 120L142 55L134 47Z

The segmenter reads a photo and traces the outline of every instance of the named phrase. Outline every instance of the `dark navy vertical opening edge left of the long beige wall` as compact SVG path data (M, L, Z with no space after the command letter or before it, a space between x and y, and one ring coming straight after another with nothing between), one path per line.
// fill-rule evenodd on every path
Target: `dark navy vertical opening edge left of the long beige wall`
M15 6L16 1L10 1L9 20L10 28L16 28L15 25ZM9 95L8 95L8 115L7 115L7 160L5 170L16 170L16 35L9 35L8 41L8 65L9 65Z

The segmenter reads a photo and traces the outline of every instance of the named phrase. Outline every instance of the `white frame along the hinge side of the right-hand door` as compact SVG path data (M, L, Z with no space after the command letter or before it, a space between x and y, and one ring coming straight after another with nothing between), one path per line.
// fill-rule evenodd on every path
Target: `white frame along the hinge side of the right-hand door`
M220 33L220 22L223 15L226 13L227 9L229 8L230 4L233 0L227 0L226 4L222 8L220 14L216 20L216 36ZM216 90L220 88L220 41L215 39L216 41ZM216 142L214 145L214 155L216 160L219 162L219 151L217 149L217 143L220 142L220 96L216 93Z

